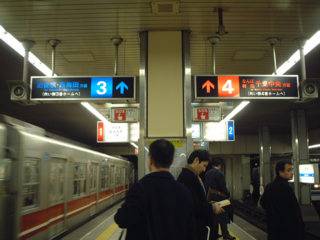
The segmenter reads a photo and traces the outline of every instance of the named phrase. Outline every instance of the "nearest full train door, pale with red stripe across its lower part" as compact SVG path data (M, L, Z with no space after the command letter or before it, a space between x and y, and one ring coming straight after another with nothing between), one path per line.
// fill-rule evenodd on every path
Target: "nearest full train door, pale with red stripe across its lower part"
M66 158L51 157L48 174L48 214L50 219L56 219L56 224L49 227L48 235L53 237L66 227Z

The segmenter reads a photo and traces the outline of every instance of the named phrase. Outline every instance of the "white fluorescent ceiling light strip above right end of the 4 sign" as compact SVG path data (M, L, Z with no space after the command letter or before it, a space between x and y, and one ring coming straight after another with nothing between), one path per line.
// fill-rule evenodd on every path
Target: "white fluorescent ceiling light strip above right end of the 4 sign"
M316 46L318 46L319 43L320 43L320 30L306 41L304 45L304 55L307 55ZM277 74L279 75L285 74L290 68L292 68L299 61L300 61L300 50L297 50L295 51L294 54L292 54L292 56L286 62L284 62L277 69Z

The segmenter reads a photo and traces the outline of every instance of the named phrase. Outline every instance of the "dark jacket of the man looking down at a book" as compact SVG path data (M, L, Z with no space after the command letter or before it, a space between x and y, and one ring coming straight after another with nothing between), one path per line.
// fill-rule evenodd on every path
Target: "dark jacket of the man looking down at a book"
M211 204L208 203L204 187L198 179L198 176L191 170L183 168L178 177L178 182L183 183L192 193L195 209L197 240L207 239L206 226L211 228L213 232L213 210Z

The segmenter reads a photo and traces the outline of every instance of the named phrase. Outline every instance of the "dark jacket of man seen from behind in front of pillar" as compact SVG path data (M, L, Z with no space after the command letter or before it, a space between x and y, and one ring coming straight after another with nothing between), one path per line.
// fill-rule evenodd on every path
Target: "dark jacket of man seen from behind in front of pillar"
M190 191L169 172L144 176L128 191L114 220L127 240L194 240Z

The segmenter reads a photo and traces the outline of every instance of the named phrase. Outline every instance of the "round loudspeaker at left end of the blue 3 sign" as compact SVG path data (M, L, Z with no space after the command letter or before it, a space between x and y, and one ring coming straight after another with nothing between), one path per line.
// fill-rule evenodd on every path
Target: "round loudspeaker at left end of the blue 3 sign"
M10 100L19 102L29 102L30 87L21 80L7 81L10 91Z

